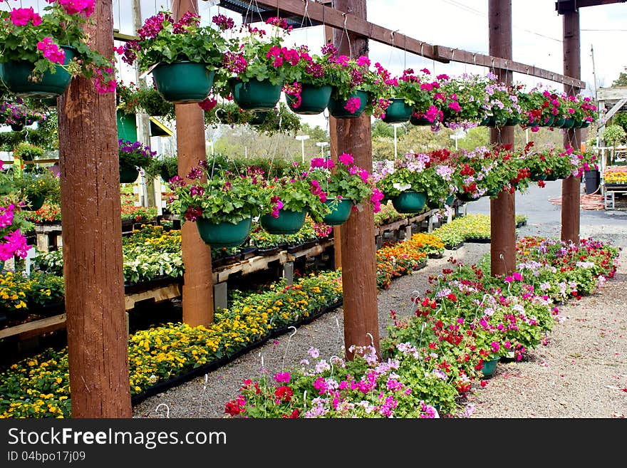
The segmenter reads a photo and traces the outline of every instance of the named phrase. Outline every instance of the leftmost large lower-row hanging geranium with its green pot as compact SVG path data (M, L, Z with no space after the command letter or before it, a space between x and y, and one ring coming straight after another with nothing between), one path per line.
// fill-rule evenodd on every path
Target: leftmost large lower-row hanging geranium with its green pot
M212 175L206 162L193 167L187 179L190 182L180 176L170 180L177 197L173 207L184 222L196 222L200 237L212 247L242 245L250 232L252 217L268 207L259 180L226 170Z

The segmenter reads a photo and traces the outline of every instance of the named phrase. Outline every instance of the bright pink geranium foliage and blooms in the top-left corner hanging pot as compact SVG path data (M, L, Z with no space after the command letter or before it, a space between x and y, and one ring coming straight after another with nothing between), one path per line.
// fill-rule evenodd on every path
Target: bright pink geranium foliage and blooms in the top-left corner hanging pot
M101 93L115 90L112 58L90 48L83 31L93 14L95 0L46 1L50 5L43 8L43 15L32 7L0 11L0 63L32 63L34 82L44 72L56 73L57 67L63 67L71 76L93 76Z

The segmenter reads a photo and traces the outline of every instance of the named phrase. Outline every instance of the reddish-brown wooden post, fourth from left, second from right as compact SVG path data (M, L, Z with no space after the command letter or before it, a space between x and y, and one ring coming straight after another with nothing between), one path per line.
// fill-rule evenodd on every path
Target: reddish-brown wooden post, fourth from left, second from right
M512 58L512 0L489 0L489 54ZM498 80L512 84L512 73L496 69ZM514 128L490 129L492 145L514 145ZM492 276L510 274L516 269L516 199L501 191L490 199L490 269Z

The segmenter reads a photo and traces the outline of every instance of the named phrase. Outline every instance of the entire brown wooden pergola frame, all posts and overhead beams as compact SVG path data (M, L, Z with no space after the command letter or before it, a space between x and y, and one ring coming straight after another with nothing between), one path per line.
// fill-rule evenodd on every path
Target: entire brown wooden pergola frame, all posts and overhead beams
M255 0L255 14L296 17L306 13L311 25L334 29L333 41L353 56L368 51L368 39L405 49L435 61L489 66L502 79L526 73L564 83L566 92L585 87L580 77L579 8L625 0L560 0L556 10L564 18L564 74L512 60L512 0L489 0L489 56L432 45L366 20L366 0L335 0L333 6L307 0ZM113 48L113 0L96 2L88 26L92 46L107 55ZM222 6L237 2L223 0ZM239 1L239 4L242 4ZM247 1L245 2L248 3ZM180 17L197 11L197 0L173 0ZM302 24L302 22L301 22ZM341 44L346 31L351 37ZM72 388L73 417L130 417L128 335L124 316L120 191L115 97L100 95L90 80L76 78L58 101L63 209L63 260ZM204 119L195 104L176 105L179 175L205 157ZM579 143L581 130L568 130L565 143ZM370 119L336 119L331 135L337 152L352 152L356 164L371 169ZM492 142L497 139L492 131ZM513 142L512 128L500 134ZM577 177L562 183L564 240L579 241L579 184ZM515 268L514 195L502 192L491 202L492 274ZM353 213L341 229L345 343L378 344L377 290L373 213ZM183 319L190 325L212 321L212 271L209 247L193 224L182 229L185 261ZM351 353L348 353L351 357Z

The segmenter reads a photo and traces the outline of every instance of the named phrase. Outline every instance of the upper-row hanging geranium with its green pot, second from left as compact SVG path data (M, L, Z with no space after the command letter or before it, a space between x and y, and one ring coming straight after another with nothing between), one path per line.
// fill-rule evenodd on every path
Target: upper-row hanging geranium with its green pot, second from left
M199 26L200 16L187 12L174 21L167 11L150 16L138 40L123 47L123 61L152 71L157 90L171 103L199 103L211 92L225 41L219 30Z

